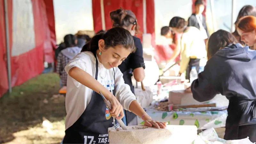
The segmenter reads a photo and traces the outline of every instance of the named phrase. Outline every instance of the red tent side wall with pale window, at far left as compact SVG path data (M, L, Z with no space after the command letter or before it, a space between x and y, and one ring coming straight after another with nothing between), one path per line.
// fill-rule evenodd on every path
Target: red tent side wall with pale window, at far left
M52 0L8 0L11 86L17 86L54 61L56 44ZM0 97L8 90L4 0L0 0Z

